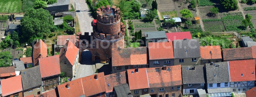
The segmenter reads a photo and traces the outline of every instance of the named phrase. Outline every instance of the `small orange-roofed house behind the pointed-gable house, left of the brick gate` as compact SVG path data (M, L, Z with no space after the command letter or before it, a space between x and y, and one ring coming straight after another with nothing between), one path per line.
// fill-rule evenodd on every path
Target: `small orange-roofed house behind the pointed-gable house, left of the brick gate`
M54 45L55 51L60 51L60 49L67 43L67 41L71 41L76 46L76 35L58 35L57 43Z

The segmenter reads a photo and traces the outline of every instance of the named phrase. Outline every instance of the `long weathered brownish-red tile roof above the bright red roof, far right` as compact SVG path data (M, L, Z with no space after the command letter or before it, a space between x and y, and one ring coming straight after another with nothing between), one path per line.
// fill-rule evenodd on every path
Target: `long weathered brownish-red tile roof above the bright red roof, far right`
M240 59L252 59L252 48L229 48L222 49L223 60L240 60Z

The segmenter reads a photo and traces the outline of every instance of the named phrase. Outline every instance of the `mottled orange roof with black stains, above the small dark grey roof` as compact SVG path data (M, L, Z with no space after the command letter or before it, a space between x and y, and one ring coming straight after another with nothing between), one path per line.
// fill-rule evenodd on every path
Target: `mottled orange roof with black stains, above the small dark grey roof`
M125 71L110 75L105 75L106 93L112 92L115 86L119 86L126 83Z

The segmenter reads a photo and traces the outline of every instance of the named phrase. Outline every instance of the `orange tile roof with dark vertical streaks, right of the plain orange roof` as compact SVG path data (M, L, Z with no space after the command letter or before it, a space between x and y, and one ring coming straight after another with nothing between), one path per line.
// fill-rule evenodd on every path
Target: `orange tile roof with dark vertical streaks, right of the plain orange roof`
M169 71L163 70L163 67L146 68L150 88L182 85L181 65L168 68Z

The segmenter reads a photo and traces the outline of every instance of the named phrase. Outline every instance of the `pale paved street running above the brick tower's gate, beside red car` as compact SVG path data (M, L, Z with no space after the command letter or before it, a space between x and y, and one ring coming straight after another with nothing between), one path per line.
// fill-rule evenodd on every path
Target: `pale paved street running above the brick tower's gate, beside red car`
M85 0L70 0L74 6L76 3L76 16L78 17L79 27L81 32L92 32L91 22L93 18L90 16L90 10ZM75 7L75 6L74 6ZM83 35L84 33L82 33Z

